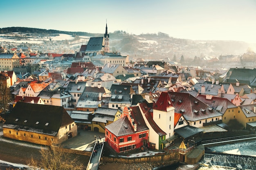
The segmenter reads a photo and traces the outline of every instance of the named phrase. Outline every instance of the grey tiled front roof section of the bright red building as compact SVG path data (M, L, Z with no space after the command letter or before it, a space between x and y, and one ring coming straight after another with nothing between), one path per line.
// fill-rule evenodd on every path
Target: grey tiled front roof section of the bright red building
M105 126L105 128L109 130L116 137L131 135L135 133L127 116L122 117L117 121L114 121L113 123Z

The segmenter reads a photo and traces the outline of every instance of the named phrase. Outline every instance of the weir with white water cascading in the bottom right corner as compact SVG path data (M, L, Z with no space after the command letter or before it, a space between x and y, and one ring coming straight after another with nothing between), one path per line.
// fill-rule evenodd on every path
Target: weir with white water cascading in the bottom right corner
M256 157L247 155L233 155L223 152L205 151L204 161L218 166L233 167L237 169L256 169Z

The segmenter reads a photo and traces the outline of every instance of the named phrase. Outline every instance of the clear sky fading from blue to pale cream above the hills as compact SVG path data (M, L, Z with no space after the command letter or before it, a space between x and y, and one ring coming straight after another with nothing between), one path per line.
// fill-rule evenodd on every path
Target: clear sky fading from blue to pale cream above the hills
M167 33L256 43L256 0L2 0L0 28Z

